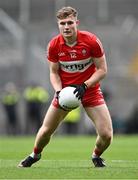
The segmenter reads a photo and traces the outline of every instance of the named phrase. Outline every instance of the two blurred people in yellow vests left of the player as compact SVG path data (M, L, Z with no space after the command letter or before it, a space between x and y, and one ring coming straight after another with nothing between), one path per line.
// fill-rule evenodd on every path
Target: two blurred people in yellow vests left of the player
M20 103L24 102L24 124L25 128L22 132L20 127ZM23 92L13 82L8 82L3 88L1 94L1 103L5 113L6 133L17 135L20 133L31 134L36 133L41 125L44 109L47 108L49 102L48 91L36 83L30 83Z

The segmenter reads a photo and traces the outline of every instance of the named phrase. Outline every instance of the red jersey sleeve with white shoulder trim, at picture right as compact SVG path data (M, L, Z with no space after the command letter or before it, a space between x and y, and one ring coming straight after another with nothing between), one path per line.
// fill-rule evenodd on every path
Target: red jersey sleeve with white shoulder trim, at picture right
M95 35L92 37L91 40L91 48L92 48L92 57L93 58L100 58L104 55L104 49L101 41Z

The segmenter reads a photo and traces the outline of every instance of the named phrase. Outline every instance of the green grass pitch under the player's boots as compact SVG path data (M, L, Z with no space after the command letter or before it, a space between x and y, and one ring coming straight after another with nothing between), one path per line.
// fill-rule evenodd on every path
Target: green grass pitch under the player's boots
M32 151L35 137L0 138L0 179L138 179L138 135L114 136L103 154L106 168L94 168L95 136L53 136L42 159L31 168L18 168Z

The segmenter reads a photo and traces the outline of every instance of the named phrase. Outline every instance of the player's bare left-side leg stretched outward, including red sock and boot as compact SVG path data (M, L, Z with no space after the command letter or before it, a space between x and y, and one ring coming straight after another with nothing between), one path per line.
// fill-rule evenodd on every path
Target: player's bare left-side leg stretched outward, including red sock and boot
M43 124L37 133L33 152L25 160L20 162L18 165L19 167L30 167L41 158L43 148L48 144L51 135L54 133L67 113L67 111L56 108L52 104L50 105Z

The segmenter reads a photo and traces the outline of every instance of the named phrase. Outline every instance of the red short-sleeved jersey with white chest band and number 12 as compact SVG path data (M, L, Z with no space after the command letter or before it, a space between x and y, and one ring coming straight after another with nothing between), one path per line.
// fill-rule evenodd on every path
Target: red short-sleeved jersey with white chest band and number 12
M102 57L103 54L102 44L96 35L79 30L75 45L66 45L59 34L49 42L47 48L47 59L60 64L59 75L63 87L81 84L89 79L96 71L93 58Z

